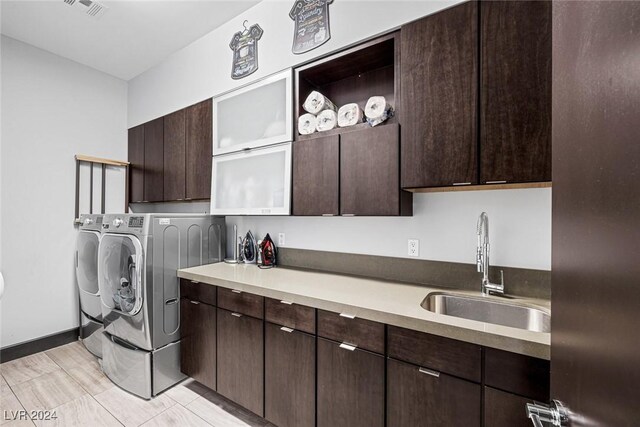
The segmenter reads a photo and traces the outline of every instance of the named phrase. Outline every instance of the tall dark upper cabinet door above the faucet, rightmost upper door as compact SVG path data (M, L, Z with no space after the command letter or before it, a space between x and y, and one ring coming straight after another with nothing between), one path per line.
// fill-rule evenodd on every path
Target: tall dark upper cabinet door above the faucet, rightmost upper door
M480 181L551 181L551 2L482 2L480 17Z

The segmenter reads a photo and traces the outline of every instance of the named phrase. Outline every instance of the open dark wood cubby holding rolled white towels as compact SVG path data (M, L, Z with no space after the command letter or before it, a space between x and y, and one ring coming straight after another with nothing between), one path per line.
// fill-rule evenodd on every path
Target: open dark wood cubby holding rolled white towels
M307 96L314 90L333 101L338 108L355 102L362 110L371 96L382 95L395 110L389 123L398 123L399 33L394 32L295 69L295 140L307 140L370 127L360 123L311 135L298 133L298 117Z

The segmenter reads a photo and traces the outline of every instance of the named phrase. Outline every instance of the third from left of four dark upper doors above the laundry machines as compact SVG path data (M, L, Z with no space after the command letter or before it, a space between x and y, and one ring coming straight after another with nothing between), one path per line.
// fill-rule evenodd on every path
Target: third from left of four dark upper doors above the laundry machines
M164 199L185 198L185 110L164 116Z

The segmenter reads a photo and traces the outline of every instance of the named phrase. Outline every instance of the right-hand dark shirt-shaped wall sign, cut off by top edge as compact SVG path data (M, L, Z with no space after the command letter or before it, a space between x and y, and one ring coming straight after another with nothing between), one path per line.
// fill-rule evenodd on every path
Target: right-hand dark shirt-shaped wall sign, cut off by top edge
M293 48L295 54L309 52L331 38L329 5L333 0L296 0L289 16L295 22Z

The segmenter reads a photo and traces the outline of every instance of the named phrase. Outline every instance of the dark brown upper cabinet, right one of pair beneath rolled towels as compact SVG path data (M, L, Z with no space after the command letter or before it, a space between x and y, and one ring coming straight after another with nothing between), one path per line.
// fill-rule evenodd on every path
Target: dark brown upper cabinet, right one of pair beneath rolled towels
M340 214L411 215L411 194L400 190L397 124L340 135Z

